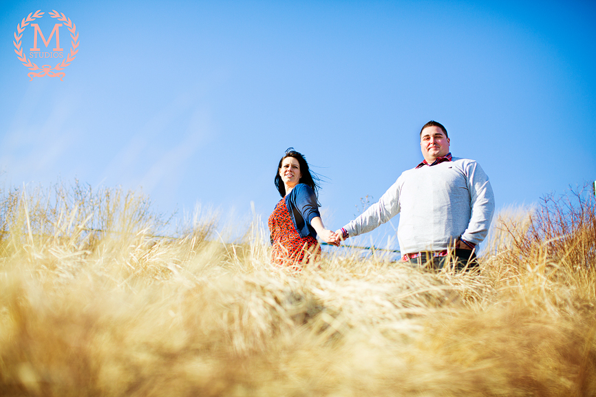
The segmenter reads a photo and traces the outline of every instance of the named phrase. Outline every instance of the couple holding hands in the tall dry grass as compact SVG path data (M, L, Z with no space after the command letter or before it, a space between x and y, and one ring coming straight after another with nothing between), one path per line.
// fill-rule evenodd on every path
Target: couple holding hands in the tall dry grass
M478 162L451 156L447 129L436 121L422 127L420 144L424 160L404 171L379 202L335 232L323 226L319 184L308 162L288 149L275 174L282 199L268 219L272 261L301 270L321 255L317 235L339 246L401 214L397 234L403 262L436 270L478 266L476 246L487 236L495 208L489 178Z

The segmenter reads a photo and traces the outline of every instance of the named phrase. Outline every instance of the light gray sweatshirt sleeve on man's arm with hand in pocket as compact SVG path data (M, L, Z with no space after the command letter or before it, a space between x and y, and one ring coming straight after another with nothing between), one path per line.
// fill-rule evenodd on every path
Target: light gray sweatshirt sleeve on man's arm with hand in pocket
M471 162L467 167L467 185L471 215L462 239L478 245L489 233L495 212L495 196L489 177L477 162Z

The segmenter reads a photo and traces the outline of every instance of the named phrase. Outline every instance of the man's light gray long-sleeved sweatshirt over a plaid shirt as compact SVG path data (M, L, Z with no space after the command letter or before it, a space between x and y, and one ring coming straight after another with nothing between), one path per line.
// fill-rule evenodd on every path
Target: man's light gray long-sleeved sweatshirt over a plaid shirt
M350 236L370 232L397 214L401 253L445 250L461 237L480 244L495 211L489 177L480 164L453 158L404 171L381 200L345 225Z

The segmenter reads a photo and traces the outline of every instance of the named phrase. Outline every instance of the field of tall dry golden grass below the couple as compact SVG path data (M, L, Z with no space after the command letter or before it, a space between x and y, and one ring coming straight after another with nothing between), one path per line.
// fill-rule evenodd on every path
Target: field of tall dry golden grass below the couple
M0 394L595 396L590 194L500 214L478 272L340 250L292 274L262 222L160 237L142 195L3 190Z

